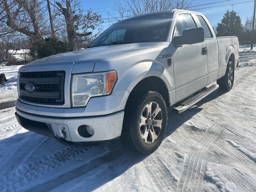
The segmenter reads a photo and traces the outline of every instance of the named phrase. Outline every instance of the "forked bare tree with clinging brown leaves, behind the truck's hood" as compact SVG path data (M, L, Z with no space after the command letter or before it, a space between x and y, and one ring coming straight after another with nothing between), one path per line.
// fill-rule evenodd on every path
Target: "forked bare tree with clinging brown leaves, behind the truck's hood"
M94 30L100 26L102 23L101 16L92 13L91 10L84 14L84 11L80 9L81 4L79 0L62 0L62 2L55 3L65 18L68 43L74 51L76 50L76 41L81 41L92 34L88 30Z

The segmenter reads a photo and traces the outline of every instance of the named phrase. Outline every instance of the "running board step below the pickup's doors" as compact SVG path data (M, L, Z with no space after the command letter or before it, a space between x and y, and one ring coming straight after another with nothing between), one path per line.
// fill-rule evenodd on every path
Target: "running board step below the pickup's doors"
M187 100L185 100L182 104L180 104L179 106L177 106L176 108L173 108L172 111L174 113L180 114L184 111L186 111L187 109L189 109L190 107L192 107L194 104L196 104L198 101L202 100L203 98L205 98L206 96L208 96L210 93L214 92L216 89L219 88L219 85L214 84L204 90L202 90L201 92L199 92L198 94L188 98Z

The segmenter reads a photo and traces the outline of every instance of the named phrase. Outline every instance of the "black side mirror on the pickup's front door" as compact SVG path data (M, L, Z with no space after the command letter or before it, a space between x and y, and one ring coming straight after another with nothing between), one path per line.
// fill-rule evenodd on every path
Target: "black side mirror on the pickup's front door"
M172 39L175 47L204 42L204 28L197 27L185 29L181 36L174 36Z

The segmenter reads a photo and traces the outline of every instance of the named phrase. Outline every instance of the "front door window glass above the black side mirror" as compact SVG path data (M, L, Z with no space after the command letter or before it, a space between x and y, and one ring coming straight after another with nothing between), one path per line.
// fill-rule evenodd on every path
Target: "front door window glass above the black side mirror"
M185 29L196 28L196 23L193 20L190 14L179 14L176 21L176 29L179 35L182 35L182 32Z

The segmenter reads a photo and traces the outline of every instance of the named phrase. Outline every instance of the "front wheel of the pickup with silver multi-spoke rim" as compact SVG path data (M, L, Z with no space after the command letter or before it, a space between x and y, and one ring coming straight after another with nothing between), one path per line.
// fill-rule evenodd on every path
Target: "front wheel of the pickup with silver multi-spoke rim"
M122 143L133 152L150 154L162 143L166 126L167 109L162 96L155 91L134 93L124 112Z

